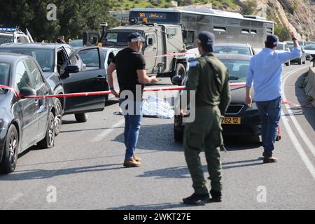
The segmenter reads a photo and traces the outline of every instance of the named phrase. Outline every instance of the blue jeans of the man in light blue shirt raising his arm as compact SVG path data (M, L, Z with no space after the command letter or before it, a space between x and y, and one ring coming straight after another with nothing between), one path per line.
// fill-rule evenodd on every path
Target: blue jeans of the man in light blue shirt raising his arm
M261 123L262 146L272 154L278 135L281 116L281 97L270 101L256 102Z

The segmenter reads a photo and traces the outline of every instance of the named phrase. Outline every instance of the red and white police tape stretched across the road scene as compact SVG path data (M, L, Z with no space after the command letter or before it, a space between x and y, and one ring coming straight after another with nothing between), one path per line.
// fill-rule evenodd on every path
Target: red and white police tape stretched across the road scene
M246 83L230 83L230 87L237 87L237 86L245 86ZM1 89L11 90L14 92L15 96L18 97L18 99L44 99L44 98L61 98L61 97L90 97L90 96L99 96L99 95L106 95L111 94L111 91L98 91L98 92L76 92L76 93L66 93L66 94L54 94L54 95L45 95L45 96L34 96L34 97L24 97L21 94L18 94L13 87L7 86L7 85L0 85ZM157 91L172 91L172 90L184 90L185 86L175 86L175 87L151 87L151 88L144 88L144 92L157 92ZM313 99L311 102L308 102L307 104L295 104L291 102L282 102L282 104L288 104L290 106L308 106L315 102L315 99Z

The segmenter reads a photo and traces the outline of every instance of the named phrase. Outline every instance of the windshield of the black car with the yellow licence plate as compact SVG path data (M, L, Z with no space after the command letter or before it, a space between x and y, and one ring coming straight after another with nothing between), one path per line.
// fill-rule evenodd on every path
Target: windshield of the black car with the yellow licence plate
M245 82L249 69L249 61L241 59L220 59L227 67L230 74L230 82Z

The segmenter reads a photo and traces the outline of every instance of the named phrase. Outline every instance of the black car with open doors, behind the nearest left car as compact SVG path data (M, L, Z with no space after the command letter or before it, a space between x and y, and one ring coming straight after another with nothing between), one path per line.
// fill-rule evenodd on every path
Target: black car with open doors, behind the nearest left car
M11 43L1 45L0 52L13 52L34 57L41 66L53 94L109 90L104 67L105 57L97 46L75 51L68 44ZM80 55L90 55L93 61L85 64ZM56 98L56 134L59 133L61 127L62 115L74 113L78 122L85 122L88 112L104 110L107 97L107 95L99 95Z

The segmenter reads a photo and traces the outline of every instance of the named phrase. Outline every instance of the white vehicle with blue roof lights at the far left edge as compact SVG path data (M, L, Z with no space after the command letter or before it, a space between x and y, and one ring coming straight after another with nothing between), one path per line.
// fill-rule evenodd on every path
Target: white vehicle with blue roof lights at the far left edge
M31 39L16 28L0 27L0 44L3 43L31 43Z

